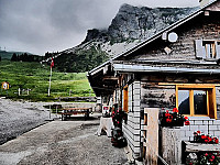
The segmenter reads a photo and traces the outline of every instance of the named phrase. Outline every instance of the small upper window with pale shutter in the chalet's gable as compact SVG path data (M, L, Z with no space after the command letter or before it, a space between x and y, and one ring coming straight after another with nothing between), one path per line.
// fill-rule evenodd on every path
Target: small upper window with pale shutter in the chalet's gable
M207 59L219 59L220 41L196 40L196 57Z

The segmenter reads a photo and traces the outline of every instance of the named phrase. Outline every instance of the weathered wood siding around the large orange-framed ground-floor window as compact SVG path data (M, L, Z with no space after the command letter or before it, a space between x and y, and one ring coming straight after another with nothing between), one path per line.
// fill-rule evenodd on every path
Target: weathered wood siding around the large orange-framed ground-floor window
M217 117L220 119L220 77L215 75L148 74L141 75L141 111L144 108L176 107L175 84L212 84L216 87ZM166 82L162 86L160 82ZM168 85L172 84L172 85ZM142 116L143 117L143 116Z

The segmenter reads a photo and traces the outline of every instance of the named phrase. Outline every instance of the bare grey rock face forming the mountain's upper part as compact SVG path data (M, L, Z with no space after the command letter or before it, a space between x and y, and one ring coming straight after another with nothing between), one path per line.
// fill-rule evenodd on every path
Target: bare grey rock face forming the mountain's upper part
M146 40L156 32L194 12L197 8L147 8L123 4L107 30L88 30L84 43L91 40L124 41Z

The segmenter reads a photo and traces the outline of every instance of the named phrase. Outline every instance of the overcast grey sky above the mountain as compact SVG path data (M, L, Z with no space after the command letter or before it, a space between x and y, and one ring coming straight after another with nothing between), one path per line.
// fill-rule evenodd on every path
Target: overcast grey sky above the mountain
M196 7L199 0L0 0L0 47L44 55L78 45L88 29L108 28L123 3Z

